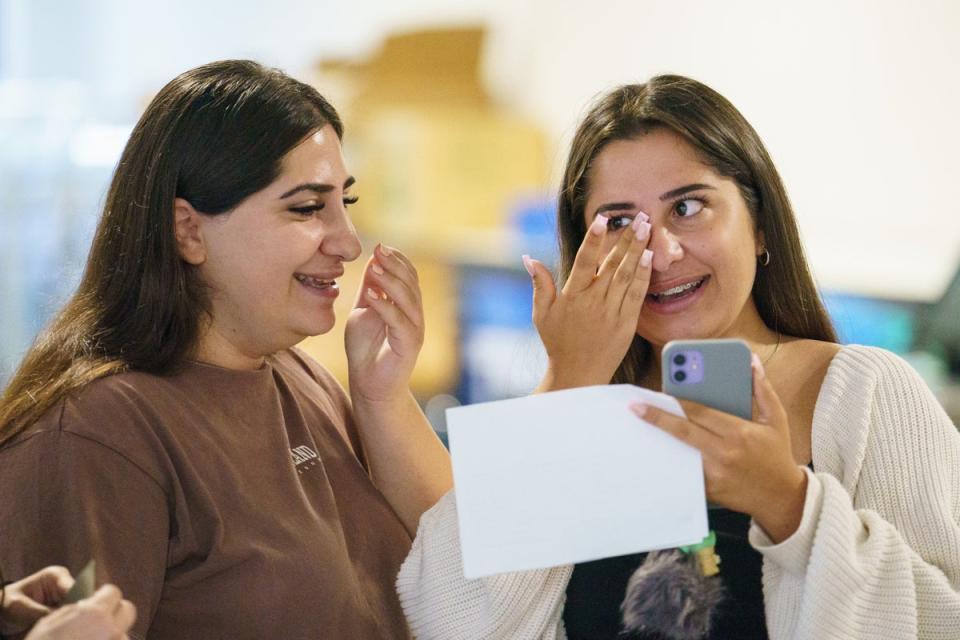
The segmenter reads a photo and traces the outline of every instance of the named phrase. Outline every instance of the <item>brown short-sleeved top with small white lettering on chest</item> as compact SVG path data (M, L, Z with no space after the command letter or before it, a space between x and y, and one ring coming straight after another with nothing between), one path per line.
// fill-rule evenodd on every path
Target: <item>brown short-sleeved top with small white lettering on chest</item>
M0 566L97 561L137 636L408 638L410 537L349 401L296 350L97 380L0 449Z

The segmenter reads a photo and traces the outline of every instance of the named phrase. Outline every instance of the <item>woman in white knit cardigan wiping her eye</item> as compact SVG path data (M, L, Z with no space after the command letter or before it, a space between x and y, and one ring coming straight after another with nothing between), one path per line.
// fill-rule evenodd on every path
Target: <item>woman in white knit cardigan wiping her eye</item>
M722 575L737 582L711 637L960 638L960 436L902 360L836 344L743 116L679 76L611 91L573 140L558 222L562 289L524 257L549 356L541 390L659 389L671 339L754 351L753 421L635 408L701 450L723 507ZM613 637L616 561L465 580L451 492L421 519L397 587L419 638Z

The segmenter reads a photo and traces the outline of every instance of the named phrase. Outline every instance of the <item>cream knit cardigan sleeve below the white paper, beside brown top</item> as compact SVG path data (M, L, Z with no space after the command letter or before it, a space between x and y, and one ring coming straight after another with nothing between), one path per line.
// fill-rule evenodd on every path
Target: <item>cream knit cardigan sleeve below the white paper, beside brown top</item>
M463 576L456 495L423 514L397 592L420 640L563 640L561 614L572 566Z

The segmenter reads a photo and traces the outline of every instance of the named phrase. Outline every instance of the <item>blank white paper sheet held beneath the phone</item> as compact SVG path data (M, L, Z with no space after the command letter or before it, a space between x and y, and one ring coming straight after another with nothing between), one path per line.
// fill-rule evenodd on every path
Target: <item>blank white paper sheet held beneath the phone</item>
M633 385L556 391L447 410L467 578L699 542L700 452L638 419Z

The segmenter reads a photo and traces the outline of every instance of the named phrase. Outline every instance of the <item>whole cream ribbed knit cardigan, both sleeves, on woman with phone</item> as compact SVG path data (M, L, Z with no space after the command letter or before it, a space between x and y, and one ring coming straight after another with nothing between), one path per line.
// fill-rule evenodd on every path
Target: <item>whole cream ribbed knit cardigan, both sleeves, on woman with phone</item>
M813 416L800 527L756 524L773 640L960 639L960 434L913 369L843 347ZM558 532L563 535L563 532ZM420 520L397 590L422 640L559 640L572 566L463 577L456 499Z

